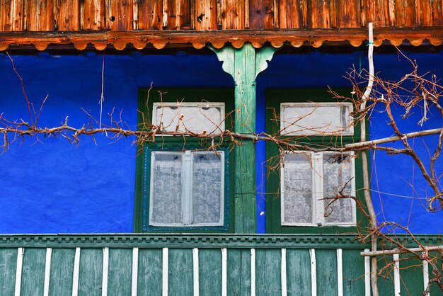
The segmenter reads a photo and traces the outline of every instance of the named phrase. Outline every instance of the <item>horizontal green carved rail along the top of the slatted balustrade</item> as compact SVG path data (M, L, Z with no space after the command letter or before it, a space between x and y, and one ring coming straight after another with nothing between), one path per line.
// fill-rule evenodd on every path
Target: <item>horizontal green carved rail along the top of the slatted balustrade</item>
M415 241L402 234L396 239L408 247L415 247ZM417 234L420 244L438 246L443 238L438 234ZM352 234L2 234L1 248L18 247L143 247L143 248L341 248L364 249ZM381 244L380 244L381 246ZM384 249L389 249L384 244Z

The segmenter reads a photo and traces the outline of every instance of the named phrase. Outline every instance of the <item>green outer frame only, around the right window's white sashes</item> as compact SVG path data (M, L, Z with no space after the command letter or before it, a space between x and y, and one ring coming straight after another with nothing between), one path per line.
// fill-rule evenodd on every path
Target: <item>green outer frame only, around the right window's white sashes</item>
M349 89L334 89L338 93L349 93ZM333 102L337 101L333 96L328 93L328 89L270 89L265 93L266 96L266 131L270 135L276 134L280 130L280 103L291 102ZM367 125L369 127L369 124ZM284 137L286 140L297 140L301 144L313 146L317 144L347 144L352 142L359 142L360 127L356 125L354 127L354 135L352 136L289 136ZM369 133L367 132L367 135ZM266 143L266 159L270 159L267 163L269 167L280 167L278 162L280 158L278 156L280 151L275 143ZM358 157L355 159L355 191L357 198L364 203L363 196L363 175L362 175L362 159ZM274 169L268 172L267 178L267 193L274 193L267 195L267 221L266 228L268 233L356 233L357 227L359 229L366 229L369 224L367 218L364 217L357 209L357 227L343 227L343 226L282 226L281 224L281 206L280 206L280 170ZM365 209L366 210L366 209Z

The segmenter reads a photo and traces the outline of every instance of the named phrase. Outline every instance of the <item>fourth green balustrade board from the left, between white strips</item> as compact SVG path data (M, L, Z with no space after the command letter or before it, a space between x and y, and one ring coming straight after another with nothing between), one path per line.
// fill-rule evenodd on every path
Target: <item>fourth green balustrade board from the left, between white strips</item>
M79 296L101 295L103 249L81 249Z

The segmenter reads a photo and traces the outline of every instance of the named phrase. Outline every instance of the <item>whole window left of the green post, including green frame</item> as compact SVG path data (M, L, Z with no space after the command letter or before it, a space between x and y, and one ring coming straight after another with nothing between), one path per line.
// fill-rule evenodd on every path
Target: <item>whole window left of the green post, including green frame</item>
M143 89L139 96L140 128L152 123L175 135L138 146L135 231L230 232L229 142L184 134L231 128L234 91Z

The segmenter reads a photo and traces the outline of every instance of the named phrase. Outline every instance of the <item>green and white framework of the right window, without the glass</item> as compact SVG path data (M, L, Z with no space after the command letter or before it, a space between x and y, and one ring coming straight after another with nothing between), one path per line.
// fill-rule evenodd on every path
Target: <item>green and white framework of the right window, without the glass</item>
M348 89L334 90L338 93L350 93ZM281 130L282 110L280 106L307 106L306 103L316 103L318 106L343 106L343 101L339 101L332 98L332 95L328 93L326 89L279 89L279 90L267 90L265 92L266 98L266 130L270 135L280 135ZM322 105L323 104L323 105ZM295 129L294 129L295 130ZM352 131L352 132L351 132ZM353 130L345 130L342 135L337 135L328 132L323 133L323 135L316 135L316 132L307 132L308 135L280 135L280 137L288 142L296 142L299 144L304 144L306 147L325 147L328 145L338 146L345 145L353 142L359 142L359 125L355 125ZM297 155L298 156L290 156ZM300 156L304 155L304 156ZM364 217L358 209L355 209L355 202L353 201L352 207L354 207L352 217L352 222L329 222L329 217L319 217L323 216L323 209L319 210L318 207L321 205L321 198L324 196L319 196L318 192L323 192L323 189L318 190L324 186L323 173L318 173L316 169L323 170L325 156L330 158L332 152L281 152L277 147L277 144L273 142L267 142L266 144L266 159L267 159L267 232L268 233L310 233L310 234L321 234L321 233L343 233L343 232L356 232L357 227L362 227L367 225L367 219ZM350 181L350 191L355 196L359 202L364 205L364 196L362 188L363 177L362 177L362 160L357 157L358 155L354 152L348 152L352 166L354 167L353 173L351 169L352 181ZM311 220L309 222L285 222L283 217L284 213L282 207L282 169L281 160L285 159L289 155L295 160L310 159L310 166L300 166L302 169L308 169L313 171L311 174L311 180L309 183L311 193L306 193L311 196L311 211L313 212ZM332 155L334 156L334 155ZM298 157L298 159L297 159ZM335 154L335 157L339 157ZM305 161L306 163L306 161ZM306 176L310 176L307 173ZM320 185L318 185L320 183ZM347 187L346 187L347 188ZM320 193L321 195L321 193ZM337 202L335 202L337 203ZM316 209L317 207L317 209ZM289 220L289 219L287 219Z

